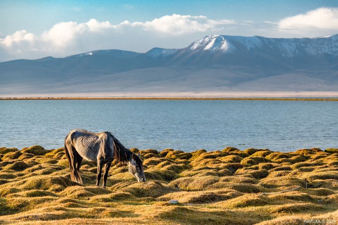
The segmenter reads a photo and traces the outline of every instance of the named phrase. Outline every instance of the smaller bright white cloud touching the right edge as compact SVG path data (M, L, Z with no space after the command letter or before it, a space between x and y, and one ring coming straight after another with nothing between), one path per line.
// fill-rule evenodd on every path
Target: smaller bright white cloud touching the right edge
M286 17L278 22L278 27L294 33L337 32L338 8L317 8L305 14Z

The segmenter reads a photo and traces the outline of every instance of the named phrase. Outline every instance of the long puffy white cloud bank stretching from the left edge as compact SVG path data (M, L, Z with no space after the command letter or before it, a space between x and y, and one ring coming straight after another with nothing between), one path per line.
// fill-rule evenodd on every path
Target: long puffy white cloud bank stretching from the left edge
M22 30L0 38L0 61L18 57L67 56L96 49L144 52L154 46L166 47L164 43L169 46L176 43L176 48L181 48L202 35L212 34L231 24L234 21L178 14L119 24L96 19L85 23L60 22L40 35ZM177 45L178 40L181 45Z

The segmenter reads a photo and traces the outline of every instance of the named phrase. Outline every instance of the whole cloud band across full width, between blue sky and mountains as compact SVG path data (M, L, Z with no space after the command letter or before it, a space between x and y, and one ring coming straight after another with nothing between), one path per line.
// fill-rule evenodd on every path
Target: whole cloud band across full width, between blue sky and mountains
M26 30L0 38L0 61L63 57L100 49L146 52L153 47L184 48L205 35L315 37L338 33L338 8L318 8L277 22L210 19L199 15L165 15L145 22L111 24L60 22L41 34Z

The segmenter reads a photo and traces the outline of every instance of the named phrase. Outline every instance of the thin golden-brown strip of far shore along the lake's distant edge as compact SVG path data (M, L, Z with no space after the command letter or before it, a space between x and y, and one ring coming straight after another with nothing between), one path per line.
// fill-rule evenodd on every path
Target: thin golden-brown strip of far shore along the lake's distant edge
M246 101L338 101L337 97L4 97L0 100L246 100Z

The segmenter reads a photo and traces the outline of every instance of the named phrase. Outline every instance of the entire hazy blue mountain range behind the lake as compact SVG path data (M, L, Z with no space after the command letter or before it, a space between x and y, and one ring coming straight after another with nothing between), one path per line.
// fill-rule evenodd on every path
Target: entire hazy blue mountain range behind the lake
M0 63L0 95L338 91L338 35L212 35L184 49L99 50Z

